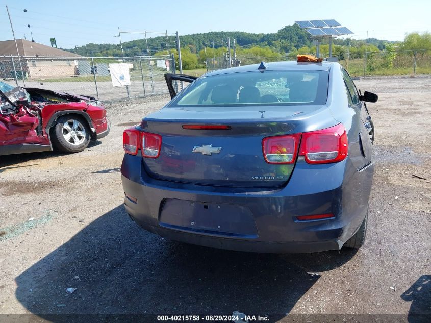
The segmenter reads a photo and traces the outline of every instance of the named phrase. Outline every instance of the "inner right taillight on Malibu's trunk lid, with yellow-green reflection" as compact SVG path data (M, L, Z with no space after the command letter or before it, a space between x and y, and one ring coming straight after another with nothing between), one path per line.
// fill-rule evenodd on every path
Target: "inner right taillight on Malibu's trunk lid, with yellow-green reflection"
M265 161L269 164L294 164L301 134L266 137L262 140Z

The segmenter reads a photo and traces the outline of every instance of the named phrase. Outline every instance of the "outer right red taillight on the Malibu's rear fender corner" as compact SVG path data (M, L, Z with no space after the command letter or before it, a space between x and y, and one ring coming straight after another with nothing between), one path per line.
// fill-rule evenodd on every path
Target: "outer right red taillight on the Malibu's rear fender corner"
M346 128L339 125L302 133L299 156L309 164L334 163L346 159L349 146Z

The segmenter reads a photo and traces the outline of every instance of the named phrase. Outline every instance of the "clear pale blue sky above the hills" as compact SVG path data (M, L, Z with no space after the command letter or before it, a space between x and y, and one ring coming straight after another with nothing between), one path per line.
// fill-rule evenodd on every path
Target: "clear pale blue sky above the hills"
M431 1L42 1L0 0L0 40L24 36L45 45L55 37L58 47L86 43L119 43L121 31L181 35L210 31L275 33L298 20L336 19L354 32L352 38L403 40L406 33L431 31ZM26 9L27 12L23 10ZM27 27L30 24L30 28ZM156 34L155 34L156 35ZM143 38L122 34L122 41Z

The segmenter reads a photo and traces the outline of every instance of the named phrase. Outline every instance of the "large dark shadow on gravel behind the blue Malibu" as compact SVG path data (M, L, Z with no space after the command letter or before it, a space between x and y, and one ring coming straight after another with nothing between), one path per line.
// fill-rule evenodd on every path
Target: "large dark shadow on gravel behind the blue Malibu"
M49 314L277 314L356 251L276 255L210 249L147 233L122 205L16 277L16 297ZM310 274L312 273L312 274ZM66 293L66 288L77 288Z

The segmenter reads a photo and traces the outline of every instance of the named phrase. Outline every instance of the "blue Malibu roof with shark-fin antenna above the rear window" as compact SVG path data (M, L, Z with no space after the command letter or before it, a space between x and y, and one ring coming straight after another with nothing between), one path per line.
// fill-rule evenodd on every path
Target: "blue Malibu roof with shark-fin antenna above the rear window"
M300 63L297 61L290 62L274 62L265 63L265 70L322 70L328 71L331 65L338 63L335 62L321 62L321 63ZM260 64L245 65L240 67L219 69L206 74L206 76L230 74L230 73L241 73L241 72L252 72L258 71Z

